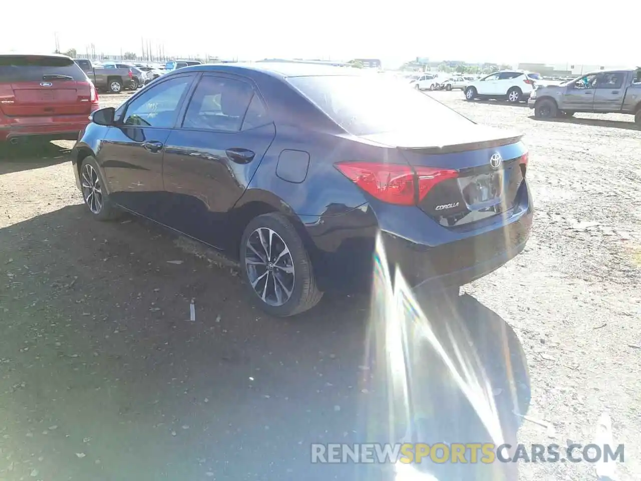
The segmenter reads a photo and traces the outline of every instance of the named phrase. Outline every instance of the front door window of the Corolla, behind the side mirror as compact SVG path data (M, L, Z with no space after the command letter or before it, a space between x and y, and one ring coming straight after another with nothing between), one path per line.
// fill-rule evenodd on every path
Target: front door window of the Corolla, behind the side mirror
M191 82L191 76L181 76L151 87L128 105L124 124L140 127L173 127L181 101Z

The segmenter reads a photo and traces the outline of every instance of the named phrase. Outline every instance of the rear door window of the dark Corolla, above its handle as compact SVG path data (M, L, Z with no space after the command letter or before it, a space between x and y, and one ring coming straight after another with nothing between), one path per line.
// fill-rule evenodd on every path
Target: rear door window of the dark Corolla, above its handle
M237 132L253 94L244 81L204 76L189 102L183 128Z

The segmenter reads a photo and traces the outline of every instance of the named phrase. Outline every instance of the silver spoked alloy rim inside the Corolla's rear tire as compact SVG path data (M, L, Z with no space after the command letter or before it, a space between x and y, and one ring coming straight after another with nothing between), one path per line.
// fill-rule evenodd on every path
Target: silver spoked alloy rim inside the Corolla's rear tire
M271 306L285 304L294 292L294 260L283 238L274 230L260 227L247 237L247 278L261 300Z

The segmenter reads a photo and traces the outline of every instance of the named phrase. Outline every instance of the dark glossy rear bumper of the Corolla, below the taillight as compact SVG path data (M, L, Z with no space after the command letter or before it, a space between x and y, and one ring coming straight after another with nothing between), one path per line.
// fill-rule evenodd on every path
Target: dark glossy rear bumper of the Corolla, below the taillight
M320 289L369 289L381 232L390 268L399 269L411 287L429 291L472 282L503 266L524 249L532 219L524 182L512 210L467 227L445 228L419 208L375 201L342 215L303 221Z

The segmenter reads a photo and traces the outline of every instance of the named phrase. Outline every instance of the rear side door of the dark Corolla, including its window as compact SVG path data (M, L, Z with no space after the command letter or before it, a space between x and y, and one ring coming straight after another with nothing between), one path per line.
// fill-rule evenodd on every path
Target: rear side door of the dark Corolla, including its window
M163 159L171 196L163 223L226 249L228 212L245 192L276 129L253 85L233 76L204 74L183 111Z

